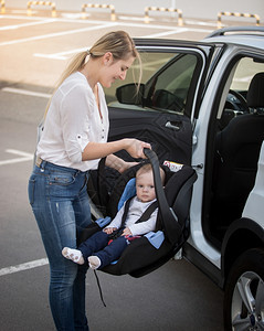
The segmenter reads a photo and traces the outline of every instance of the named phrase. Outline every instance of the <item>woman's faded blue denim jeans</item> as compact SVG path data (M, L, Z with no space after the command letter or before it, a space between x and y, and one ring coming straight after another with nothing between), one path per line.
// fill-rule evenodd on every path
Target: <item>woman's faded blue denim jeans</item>
M50 305L57 330L88 330L85 316L87 267L62 256L91 224L88 173L42 161L29 180L29 200L50 261Z

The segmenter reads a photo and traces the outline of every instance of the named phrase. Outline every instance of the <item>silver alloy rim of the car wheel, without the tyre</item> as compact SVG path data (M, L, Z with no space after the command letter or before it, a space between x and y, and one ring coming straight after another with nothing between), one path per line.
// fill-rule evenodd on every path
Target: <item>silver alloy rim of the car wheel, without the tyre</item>
M231 307L232 329L235 331L264 331L264 281L253 271L237 280Z

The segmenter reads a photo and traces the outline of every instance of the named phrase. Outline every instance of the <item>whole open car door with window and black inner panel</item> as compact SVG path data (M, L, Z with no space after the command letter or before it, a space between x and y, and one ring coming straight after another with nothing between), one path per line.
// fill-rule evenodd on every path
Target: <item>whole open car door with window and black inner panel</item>
M137 64L128 71L126 82L105 90L109 140L138 138L151 143L161 163L169 160L190 166L194 114L213 46L166 40L135 42L142 61L139 94L133 77L137 77Z

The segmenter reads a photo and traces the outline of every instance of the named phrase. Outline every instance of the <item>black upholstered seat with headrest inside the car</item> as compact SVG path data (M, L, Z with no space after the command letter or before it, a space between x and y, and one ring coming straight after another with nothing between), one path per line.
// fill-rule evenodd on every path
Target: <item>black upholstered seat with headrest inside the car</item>
M264 140L264 111L258 111L258 108L264 108L264 73L252 78L246 100L252 114L233 118L217 136L219 161L213 183L212 213L223 231L230 222L241 217L254 185Z

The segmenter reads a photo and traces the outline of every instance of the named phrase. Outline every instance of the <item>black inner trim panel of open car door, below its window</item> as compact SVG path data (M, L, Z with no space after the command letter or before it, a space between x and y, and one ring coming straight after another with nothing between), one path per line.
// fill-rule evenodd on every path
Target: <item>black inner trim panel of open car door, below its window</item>
M159 111L135 111L113 108L109 111L109 140L137 138L151 143L160 162L190 164L191 122L186 116ZM126 160L131 158L122 152Z

